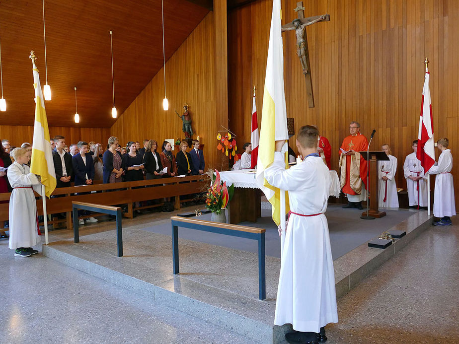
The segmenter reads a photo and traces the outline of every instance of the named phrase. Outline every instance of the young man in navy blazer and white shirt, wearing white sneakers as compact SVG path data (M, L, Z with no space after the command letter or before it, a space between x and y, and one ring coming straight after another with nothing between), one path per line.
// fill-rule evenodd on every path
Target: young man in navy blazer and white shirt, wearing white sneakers
M87 142L79 141L76 143L79 153L75 154L72 158L72 165L75 171L75 186L78 185L91 185L94 179L94 162L92 155L87 154ZM84 195L86 193L78 193L77 195ZM78 210L78 215L81 215L82 210ZM94 217L86 219L88 222L97 222ZM80 218L79 224L84 224L84 220Z

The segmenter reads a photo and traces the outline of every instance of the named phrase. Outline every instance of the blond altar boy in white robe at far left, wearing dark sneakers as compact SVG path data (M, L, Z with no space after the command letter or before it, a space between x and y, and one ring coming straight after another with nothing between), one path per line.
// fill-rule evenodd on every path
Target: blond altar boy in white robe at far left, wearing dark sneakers
M13 188L9 199L9 245L16 257L38 253L32 246L40 242L37 206L33 191L41 195L41 184L27 166L29 156L24 148L14 148L14 162L8 167L8 180Z

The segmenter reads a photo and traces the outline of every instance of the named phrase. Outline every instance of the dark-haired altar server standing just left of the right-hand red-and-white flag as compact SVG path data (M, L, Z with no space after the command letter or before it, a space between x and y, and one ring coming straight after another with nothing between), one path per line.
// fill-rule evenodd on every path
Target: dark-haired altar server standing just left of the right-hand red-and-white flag
M427 209L427 177L421 161L416 157L418 140L413 141L413 153L408 154L403 163L403 174L408 189L408 204L410 208Z

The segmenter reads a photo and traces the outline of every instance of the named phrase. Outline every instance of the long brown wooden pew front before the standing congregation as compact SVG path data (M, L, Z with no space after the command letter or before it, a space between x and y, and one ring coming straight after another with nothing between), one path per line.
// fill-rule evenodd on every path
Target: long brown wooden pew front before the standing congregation
M128 210L125 217L133 217L133 204L166 197L175 197L175 209L180 209L180 196L207 191L207 175L171 177L152 180L140 180L135 182L121 182L112 184L95 184L85 186L71 186L68 188L55 189L52 196L60 196L46 200L48 214L66 213L66 219L48 221L48 223L66 222L67 229L72 229L72 202L94 203L105 206L127 204ZM188 182L188 183L183 183ZM180 183L180 184L179 184ZM163 185L166 184L166 185ZM95 192L95 193L90 193ZM76 195L76 193L90 193ZM10 193L0 194L0 227L3 221L8 220L8 207ZM37 211L43 215L43 204L41 197L37 197ZM7 201L1 203L1 201ZM161 204L151 207L161 206ZM149 206L144 206L146 208ZM81 216L83 217L89 217Z

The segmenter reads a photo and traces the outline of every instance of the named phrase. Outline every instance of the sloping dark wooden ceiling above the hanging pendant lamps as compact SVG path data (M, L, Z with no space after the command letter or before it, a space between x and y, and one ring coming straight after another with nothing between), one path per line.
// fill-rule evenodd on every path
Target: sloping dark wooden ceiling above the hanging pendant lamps
M166 61L208 12L193 1L164 0ZM118 115L162 67L160 0L45 0L45 21L50 126L112 126L110 30ZM41 84L46 83L42 1L1 0L0 40L7 104L0 125L33 125L31 50ZM79 124L73 119L74 87Z

